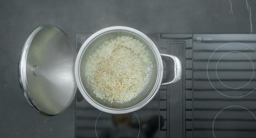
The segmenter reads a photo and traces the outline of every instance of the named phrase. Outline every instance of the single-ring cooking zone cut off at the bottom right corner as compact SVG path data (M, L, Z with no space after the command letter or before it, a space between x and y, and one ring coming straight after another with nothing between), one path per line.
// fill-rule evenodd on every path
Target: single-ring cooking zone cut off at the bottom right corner
M244 132L251 131L256 135L255 127L255 115L245 107L233 105L217 113L212 123L212 134L214 138L226 138L227 135L232 137L232 134L236 135L236 138L244 138ZM233 133L230 133L231 131Z

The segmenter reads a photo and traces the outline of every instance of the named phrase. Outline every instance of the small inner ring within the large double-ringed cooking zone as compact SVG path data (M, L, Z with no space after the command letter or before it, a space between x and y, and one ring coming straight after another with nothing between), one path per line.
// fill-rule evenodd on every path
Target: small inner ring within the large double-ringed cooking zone
M227 52L226 54L222 55L219 59L218 59L218 62L221 60L221 58L223 58L224 56L226 56L227 54L230 54L230 53L239 53L239 54L243 54L245 57L247 57L251 64L252 64L252 68L253 68L253 71L252 71L252 75L251 75L251 78L249 80L249 82L253 79L253 74L254 74L254 65L253 65L253 62L252 60L250 59L249 56L247 56L246 54L244 54L243 52L239 52L239 51L230 51L230 52ZM225 87L228 87L228 88L231 88L231 89L239 89L239 88L242 88L242 87L245 87L247 84L249 84L249 82L247 82L246 84L242 85L242 86L239 86L239 87L232 87L232 86L228 86L228 84L224 84L218 77L218 71L217 71L217 68L218 68L218 62L216 64L216 68L215 68L215 71L216 71L216 76L218 78L218 80L221 82L221 84L223 84Z

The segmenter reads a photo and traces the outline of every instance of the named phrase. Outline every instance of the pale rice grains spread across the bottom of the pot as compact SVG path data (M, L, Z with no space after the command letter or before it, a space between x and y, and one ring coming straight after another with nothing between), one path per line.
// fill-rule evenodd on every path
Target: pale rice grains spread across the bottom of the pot
M122 36L104 42L85 66L85 76L100 99L123 103L134 99L152 73L145 45Z

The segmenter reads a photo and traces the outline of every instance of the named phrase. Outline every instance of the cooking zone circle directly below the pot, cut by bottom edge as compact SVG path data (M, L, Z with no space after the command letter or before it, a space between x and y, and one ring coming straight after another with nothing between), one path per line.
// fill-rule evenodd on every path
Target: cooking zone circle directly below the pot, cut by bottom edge
M111 122L112 121L112 122ZM97 138L108 135L110 138L139 138L140 120L136 113L109 114L99 113L95 122Z

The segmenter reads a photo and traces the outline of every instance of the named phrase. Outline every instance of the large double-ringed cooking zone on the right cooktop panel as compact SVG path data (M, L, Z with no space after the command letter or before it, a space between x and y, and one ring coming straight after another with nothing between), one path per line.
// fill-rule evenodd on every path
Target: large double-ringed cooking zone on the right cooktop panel
M207 77L212 87L232 98L252 93L256 89L253 84L255 54L256 51L249 45L238 42L218 47L207 63Z

